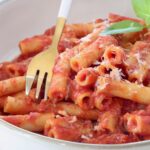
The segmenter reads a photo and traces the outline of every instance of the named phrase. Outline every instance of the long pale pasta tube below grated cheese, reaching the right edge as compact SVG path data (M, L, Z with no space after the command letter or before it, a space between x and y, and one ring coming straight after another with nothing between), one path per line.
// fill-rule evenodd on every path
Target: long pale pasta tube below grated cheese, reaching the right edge
M136 83L112 80L100 76L97 81L97 92L142 104L150 104L150 88Z

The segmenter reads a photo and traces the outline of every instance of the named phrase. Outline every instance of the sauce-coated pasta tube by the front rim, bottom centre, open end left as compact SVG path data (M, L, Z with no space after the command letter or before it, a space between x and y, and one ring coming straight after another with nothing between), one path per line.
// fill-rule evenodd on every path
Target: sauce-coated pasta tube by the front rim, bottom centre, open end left
M87 120L79 120L75 116L58 117L47 120L44 132L46 136L56 139L80 141L82 135L92 133L92 123Z

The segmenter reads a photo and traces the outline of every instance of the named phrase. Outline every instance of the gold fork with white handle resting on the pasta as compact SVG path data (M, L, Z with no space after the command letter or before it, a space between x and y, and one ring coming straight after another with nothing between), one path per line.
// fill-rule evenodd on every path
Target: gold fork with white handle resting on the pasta
M32 85L37 80L35 98L38 99L41 88L44 85L44 99L47 100L48 90L52 78L52 69L55 64L55 58L58 51L58 43L60 41L64 25L71 7L72 0L61 0L60 10L57 17L55 33L52 45L47 50L37 54L31 60L26 74L26 95L29 95ZM44 82L45 81L45 82Z

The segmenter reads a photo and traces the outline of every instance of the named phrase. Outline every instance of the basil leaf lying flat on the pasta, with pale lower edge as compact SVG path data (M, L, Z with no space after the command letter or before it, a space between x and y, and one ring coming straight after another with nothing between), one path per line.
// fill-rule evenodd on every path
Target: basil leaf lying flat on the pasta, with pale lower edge
M128 33L128 32L137 32L141 31L144 28L143 25L131 21L124 20L110 25L104 31L100 33L100 35L110 35L110 34L120 34L120 33Z

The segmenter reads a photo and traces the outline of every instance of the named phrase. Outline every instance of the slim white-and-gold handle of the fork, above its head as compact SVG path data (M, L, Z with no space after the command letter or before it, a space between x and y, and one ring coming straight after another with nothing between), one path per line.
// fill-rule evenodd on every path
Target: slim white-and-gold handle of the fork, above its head
M72 0L62 0L61 5L60 5L60 10L58 13L58 18L57 18L57 23L56 23L56 28L55 28L55 33L53 36L53 41L52 41L52 48L57 49L59 40L61 38L64 25L67 20L67 16L71 7ZM57 52L53 52L53 54L57 54Z

